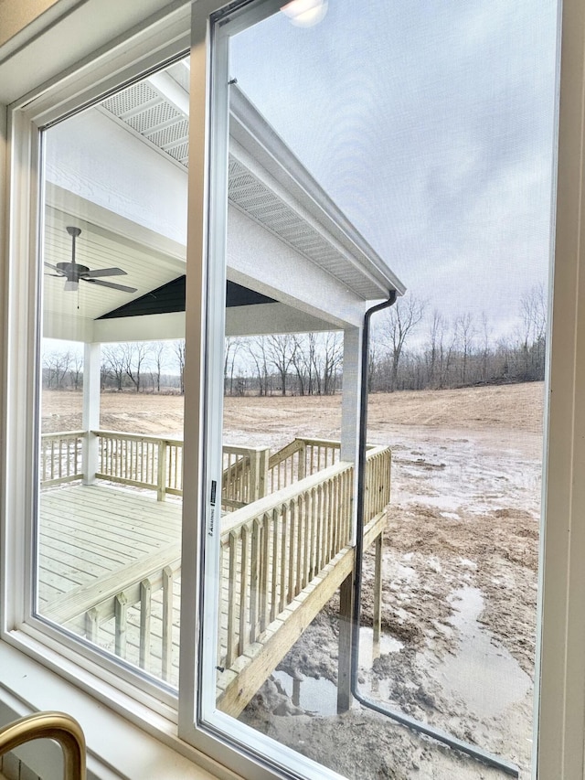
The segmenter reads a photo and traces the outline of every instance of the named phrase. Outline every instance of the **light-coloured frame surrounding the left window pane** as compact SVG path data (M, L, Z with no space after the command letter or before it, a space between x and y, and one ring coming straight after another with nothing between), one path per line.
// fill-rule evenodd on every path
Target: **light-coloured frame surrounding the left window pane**
M206 265L204 259L206 246L205 215L207 212L207 116L208 116L208 23L207 17L225 3L222 0L197 0L193 14L187 19L185 8L190 5L179 4L163 19L149 25L142 36L133 36L132 46L127 41L114 41L113 48L102 50L89 63L81 63L80 69L74 69L63 78L57 78L48 87L43 84L38 91L29 92L21 101L15 102L8 110L9 138L13 154L9 156L10 178L8 181L8 214L11 230L6 248L5 274L5 378L7 379L3 405L5 425L4 458L11 464L3 473L5 491L2 503L2 533L4 553L0 559L0 582L2 604L0 604L0 653L6 648L15 649L30 659L31 668L40 663L48 670L64 678L67 683L89 694L92 699L101 701L112 713L121 713L129 721L137 723L147 732L170 744L176 753L186 755L199 765L211 764L217 770L216 776L233 776L232 772L242 772L246 776L259 777L260 780L273 778L272 772L262 769L256 761L238 751L230 750L225 742L204 732L198 732L195 724L194 700L195 684L187 680L186 694L179 697L179 713L186 716L186 728L182 736L177 734L177 712L168 698L161 702L161 689L150 685L139 673L126 669L115 660L102 658L97 660L93 649L87 653L82 643L61 633L44 621L27 615L27 604L31 603L32 561L29 550L32 548L32 523L27 522L27 536L17 522L9 518L32 518L33 500L36 494L34 486L35 460L35 409L36 399L34 381L35 355L33 345L37 343L37 285L29 280L37 278L38 230L38 159L40 130L49 127L69 114L78 112L103 98L111 90L118 90L124 83L135 78L143 78L148 72L159 69L167 61L176 59L185 51L186 41L190 41L192 61L192 82L205 89L193 90L197 100L190 103L191 116L200 116L201 122L190 123L190 140L197 153L191 153L192 159L199 156L199 165L192 165L189 180L189 225L187 267L190 269L191 282L187 285L187 295L198 301L205 300L203 291L206 283ZM190 21L191 27L188 27ZM187 24L187 29L186 29ZM195 67L194 67L195 66ZM197 67L200 69L197 81ZM200 221L197 221L198 219ZM17 258L26 258L26 263ZM204 414L201 409L197 385L202 376L205 349L197 347L197 334L205 334L205 306L192 306L194 320L191 320L191 350L186 365L186 386L191 379L191 402L197 403L198 414L193 415L191 429L199 435ZM203 316L203 319L201 317ZM188 325L187 325L188 327ZM11 338L17 334L18 339ZM24 357L26 356L26 358ZM186 390L186 393L189 390ZM26 398L26 402L22 400ZM196 401L197 399L197 401ZM195 406L194 403L194 406ZM16 416L16 413L18 416ZM192 433L192 435L193 435ZM187 438L187 433L186 433ZM192 439L192 442L195 442ZM188 450L188 445L186 450ZM195 458L195 471L198 473L198 447L193 444L191 452ZM27 475L26 483L19 479L20 474ZM188 524L184 523L186 529ZM187 529L187 537L197 538L196 529ZM196 542L197 543L197 542ZM188 554L188 552L186 553ZM27 588L21 587L26 573ZM182 572L190 582L197 586L197 558L192 566L185 566ZM195 611L191 611L188 620L182 623L182 631L194 632L198 627ZM196 636L195 632L192 636ZM184 643L183 643L184 644ZM195 657L196 642L188 643L187 659ZM81 651L81 652L80 652ZM181 661L185 665L185 661ZM6 667L7 668L7 667ZM193 662L188 667L195 668ZM139 684L137 686L137 683ZM18 688L18 686L16 686ZM64 689L65 690L65 689ZM0 699L1 699L0 692ZM42 697L38 698L39 700ZM67 699L66 699L67 700ZM186 700L185 707L181 703ZM37 705L42 706L42 705ZM47 706L47 705L45 705ZM202 748L202 749L201 749ZM228 769L227 767L230 767ZM219 768L221 771L219 771Z

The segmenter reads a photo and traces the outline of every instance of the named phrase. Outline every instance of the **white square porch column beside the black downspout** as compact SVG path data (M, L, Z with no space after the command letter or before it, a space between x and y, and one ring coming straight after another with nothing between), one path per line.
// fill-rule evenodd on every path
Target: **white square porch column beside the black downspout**
M362 328L344 331L344 379L341 400L341 459L357 465L361 392ZM357 470L355 470L357 483ZM353 502L352 538L356 534L356 501Z

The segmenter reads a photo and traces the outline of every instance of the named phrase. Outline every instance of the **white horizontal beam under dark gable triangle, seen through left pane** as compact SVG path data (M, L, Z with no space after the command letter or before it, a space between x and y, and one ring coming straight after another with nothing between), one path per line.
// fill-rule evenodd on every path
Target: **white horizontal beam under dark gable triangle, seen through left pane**
M91 341L108 344L172 338L185 338L185 312L95 320Z

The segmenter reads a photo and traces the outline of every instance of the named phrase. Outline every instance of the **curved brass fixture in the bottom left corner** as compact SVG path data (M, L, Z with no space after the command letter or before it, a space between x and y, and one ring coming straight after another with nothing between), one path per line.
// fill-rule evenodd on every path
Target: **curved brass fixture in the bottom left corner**
M57 740L63 750L64 780L86 780L85 737L64 712L37 712L0 729L0 755L36 739Z

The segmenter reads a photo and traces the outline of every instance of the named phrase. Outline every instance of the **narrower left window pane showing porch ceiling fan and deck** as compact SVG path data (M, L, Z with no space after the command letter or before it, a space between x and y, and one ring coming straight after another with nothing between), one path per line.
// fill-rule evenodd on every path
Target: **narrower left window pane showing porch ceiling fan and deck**
M188 67L44 133L37 614L176 687Z

